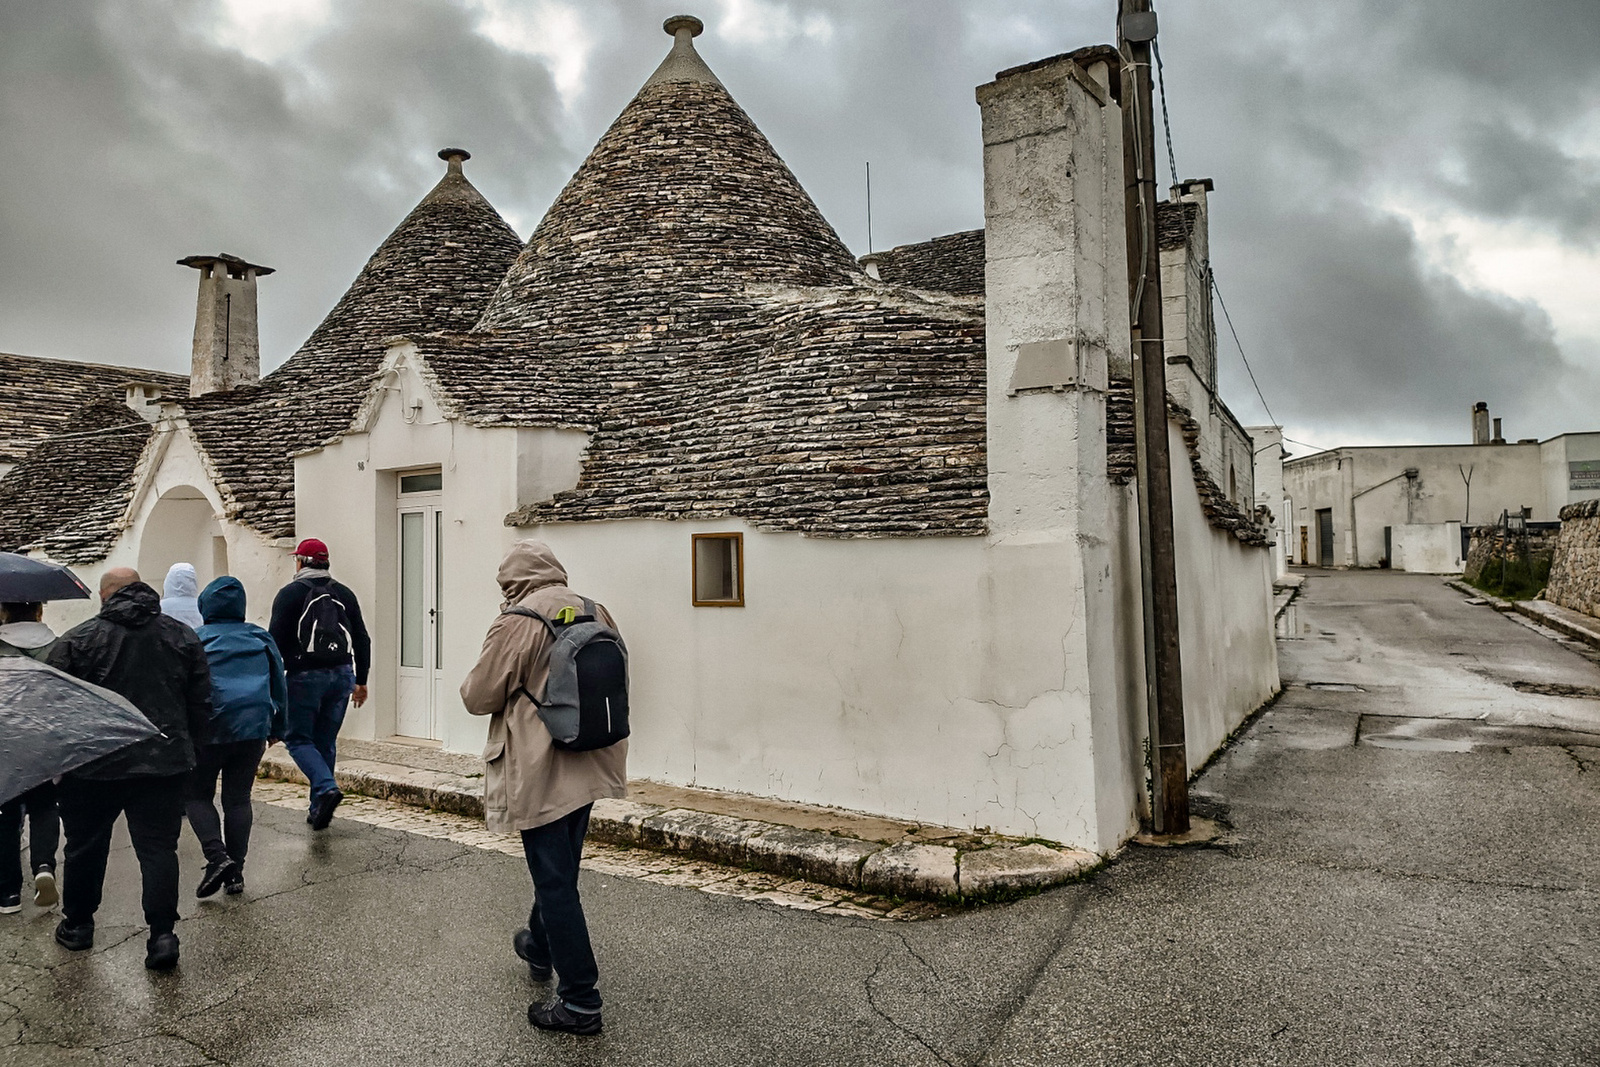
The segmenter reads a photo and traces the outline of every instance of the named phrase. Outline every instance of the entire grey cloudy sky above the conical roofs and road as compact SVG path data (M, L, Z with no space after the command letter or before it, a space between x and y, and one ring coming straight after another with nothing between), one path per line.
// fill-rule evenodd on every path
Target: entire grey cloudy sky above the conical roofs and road
M526 237L682 0L0 5L0 350L187 370L194 274L270 368L437 181ZM1184 176L1272 414L1318 445L1600 429L1600 3L1158 0ZM701 53L866 251L982 224L973 86L1115 0L702 0ZM1226 326L1224 326L1226 330ZM1224 333L1222 390L1266 421Z

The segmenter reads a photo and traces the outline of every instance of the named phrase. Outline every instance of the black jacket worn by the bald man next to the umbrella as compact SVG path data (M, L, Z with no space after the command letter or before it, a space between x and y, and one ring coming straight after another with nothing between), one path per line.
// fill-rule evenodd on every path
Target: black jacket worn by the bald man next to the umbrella
M182 774L195 765L211 721L211 670L195 632L162 614L158 592L144 582L118 589L98 616L62 633L45 662L128 697L163 734L85 763L74 777Z

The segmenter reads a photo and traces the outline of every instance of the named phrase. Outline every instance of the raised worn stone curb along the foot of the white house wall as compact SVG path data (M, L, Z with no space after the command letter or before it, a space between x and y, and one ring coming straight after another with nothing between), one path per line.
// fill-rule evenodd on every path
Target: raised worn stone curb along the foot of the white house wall
M282 749L267 752L261 776L306 784ZM339 789L430 811L483 817L482 776L400 768L373 760L344 760ZM1101 864L1094 853L1042 843L958 851L947 845L882 845L840 833L661 808L632 800L597 800L589 835L606 845L680 853L696 859L754 867L824 885L923 901L992 901L1072 881Z

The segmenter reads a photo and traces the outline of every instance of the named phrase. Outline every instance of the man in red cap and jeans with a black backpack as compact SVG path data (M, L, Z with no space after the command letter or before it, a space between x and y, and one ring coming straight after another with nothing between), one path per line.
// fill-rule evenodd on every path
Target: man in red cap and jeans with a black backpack
M294 547L294 581L272 601L267 629L288 672L283 744L310 782L306 822L325 830L344 800L333 777L339 726L349 704L366 702L373 641L355 593L333 581L328 545L322 541L307 537Z

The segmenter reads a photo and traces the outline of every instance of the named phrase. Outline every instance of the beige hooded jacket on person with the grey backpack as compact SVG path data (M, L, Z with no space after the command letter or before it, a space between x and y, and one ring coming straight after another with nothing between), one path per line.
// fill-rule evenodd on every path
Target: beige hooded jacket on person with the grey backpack
M549 617L582 606L566 571L542 541L518 541L499 566L506 608L520 605ZM611 614L595 614L616 629ZM461 683L474 715L490 715L483 747L483 813L490 830L531 830L602 797L627 795L627 741L590 752L557 749L525 694L542 693L550 673L550 637L538 619L501 614L490 624L477 665Z

